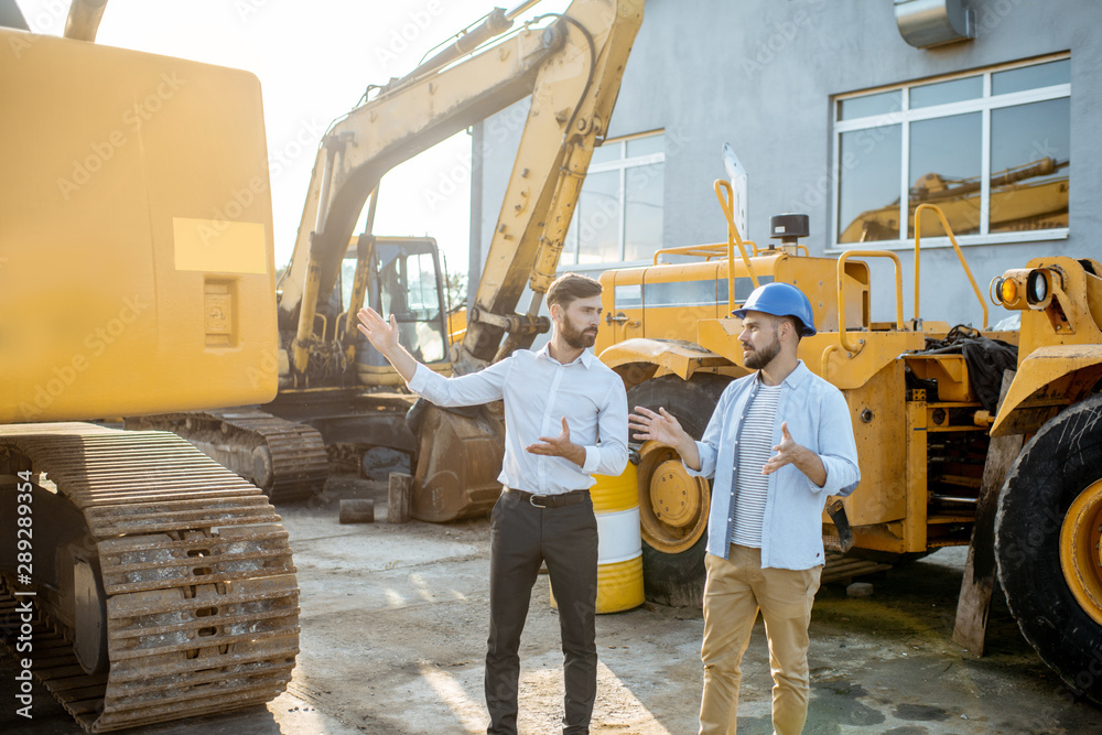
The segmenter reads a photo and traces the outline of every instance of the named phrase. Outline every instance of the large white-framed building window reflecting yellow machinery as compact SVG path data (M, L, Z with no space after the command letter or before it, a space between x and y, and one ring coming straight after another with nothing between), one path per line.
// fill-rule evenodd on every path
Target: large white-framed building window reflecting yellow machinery
M927 202L962 244L1066 236L1070 96L1063 55L836 98L835 246L908 244Z

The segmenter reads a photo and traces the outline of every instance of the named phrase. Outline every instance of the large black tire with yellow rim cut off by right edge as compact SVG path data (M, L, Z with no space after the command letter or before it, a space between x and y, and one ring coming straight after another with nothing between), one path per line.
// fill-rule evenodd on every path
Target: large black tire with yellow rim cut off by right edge
M1076 599L1060 565L1068 509L1100 479L1102 396L1093 396L1041 426L1018 455L998 502L995 554L1022 635L1074 695L1102 703L1102 625Z

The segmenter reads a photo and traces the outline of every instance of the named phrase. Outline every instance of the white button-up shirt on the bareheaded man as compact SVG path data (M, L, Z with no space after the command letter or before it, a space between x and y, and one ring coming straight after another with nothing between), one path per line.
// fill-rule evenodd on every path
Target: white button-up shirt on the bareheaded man
M627 392L609 367L583 350L562 365L547 345L533 353L520 349L484 370L445 378L418 365L409 388L436 406L477 406L505 400L503 485L536 495L557 495L592 487L592 475L619 475L627 466ZM579 467L565 457L526 450L540 436L562 433L585 447Z

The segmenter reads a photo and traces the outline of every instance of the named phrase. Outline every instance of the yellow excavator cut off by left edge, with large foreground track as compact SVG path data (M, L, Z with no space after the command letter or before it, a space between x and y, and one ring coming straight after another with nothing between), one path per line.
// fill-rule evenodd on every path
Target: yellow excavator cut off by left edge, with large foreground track
M89 732L263 704L299 650L263 494L172 434L84 423L277 388L260 85L93 43L104 4L67 37L0 28L6 705L30 726L41 685Z

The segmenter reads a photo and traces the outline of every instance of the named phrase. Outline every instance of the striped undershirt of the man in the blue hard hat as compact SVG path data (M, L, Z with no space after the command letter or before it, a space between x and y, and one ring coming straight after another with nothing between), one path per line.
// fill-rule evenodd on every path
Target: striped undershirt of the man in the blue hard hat
M731 542L742 547L761 548L761 523L769 495L769 476L761 474L761 466L773 456L773 425L780 389L780 386L758 385L738 432L736 466L739 472L735 478L735 522L731 527Z

